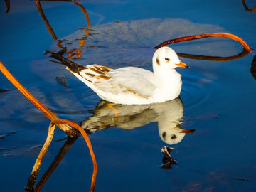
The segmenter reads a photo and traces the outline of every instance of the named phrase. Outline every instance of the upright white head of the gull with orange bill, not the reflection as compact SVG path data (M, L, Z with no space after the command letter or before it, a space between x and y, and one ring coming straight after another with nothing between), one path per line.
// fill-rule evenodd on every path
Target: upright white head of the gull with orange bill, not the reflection
M153 68L162 68L164 70L174 69L176 67L189 68L186 63L179 60L176 52L169 47L161 47L156 50L153 56Z

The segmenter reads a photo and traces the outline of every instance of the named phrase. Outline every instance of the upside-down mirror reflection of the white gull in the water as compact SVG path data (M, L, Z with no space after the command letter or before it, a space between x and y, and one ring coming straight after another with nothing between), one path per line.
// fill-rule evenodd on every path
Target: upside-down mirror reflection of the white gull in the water
M134 129L150 122L158 122L161 139L167 144L176 144L181 142L185 134L194 131L180 128L183 118L180 98L151 105L114 105L102 100L93 110L93 114L81 122L81 127L87 132L109 127Z

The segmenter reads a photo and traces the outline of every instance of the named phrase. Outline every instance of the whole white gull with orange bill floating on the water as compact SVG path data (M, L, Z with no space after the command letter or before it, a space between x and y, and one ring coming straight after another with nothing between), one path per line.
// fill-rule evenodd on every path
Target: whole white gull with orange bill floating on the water
M119 68L113 70L101 65L79 65L53 53L79 80L103 100L124 105L142 105L174 100L181 92L181 75L176 67L188 68L174 50L162 47L153 56L153 70Z

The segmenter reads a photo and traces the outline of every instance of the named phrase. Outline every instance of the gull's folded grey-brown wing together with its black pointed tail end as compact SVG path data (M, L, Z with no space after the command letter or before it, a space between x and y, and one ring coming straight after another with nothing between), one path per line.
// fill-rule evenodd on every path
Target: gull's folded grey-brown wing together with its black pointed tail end
M84 66L64 58L63 53L65 49L52 53L52 56L102 98L107 95L134 95L146 99L156 89L152 83L154 75L149 70L133 67L113 70L96 64Z

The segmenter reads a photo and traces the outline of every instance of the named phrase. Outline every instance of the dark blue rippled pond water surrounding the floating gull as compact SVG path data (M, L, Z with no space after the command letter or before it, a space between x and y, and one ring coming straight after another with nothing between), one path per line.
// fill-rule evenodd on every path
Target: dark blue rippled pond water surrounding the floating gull
M147 26L149 32L137 32L135 36L124 33L127 41L123 41L121 33L114 35L119 38L116 43L107 35L89 36L86 45L98 43L102 48L80 46L83 57L75 60L78 63L112 68L133 65L150 70L152 47L161 43L160 38L168 40L200 32L233 33L256 47L256 12L246 11L242 1L78 2L85 7L95 31L108 32L106 26L122 26L127 21L137 22L138 26L153 18L159 22L169 18L176 21L173 26L164 26L175 33L165 31L149 40L144 37L159 28L161 22ZM252 9L256 2L250 0L246 4ZM63 45L76 46L75 38L82 34L78 28L87 27L80 7L64 1L41 1L41 6L55 35L66 40ZM101 126L88 130L98 164L95 191L256 191L256 81L250 73L252 53L226 62L181 58L191 66L189 70L178 69L183 79L183 105L178 101L164 107L144 106L144 110L121 106L123 116L113 122L113 114L100 115L109 109L97 107L100 98L92 90L44 54L58 47L36 2L11 1L9 14L5 12L6 5L1 1L0 60L6 68L58 117L78 124L98 118L95 123ZM139 41L132 44L135 38ZM223 38L176 43L171 47L179 53L222 57L242 51L239 43ZM65 76L69 88L60 85L56 76ZM50 121L2 73L0 89L9 89L0 92L0 191L23 191L46 140ZM176 114L176 119L171 114ZM173 118L181 123L181 129L196 131L176 144L164 142L158 123L164 115L170 117L166 117L169 121ZM169 131L173 130L172 123L167 122ZM36 183L65 144L65 140L56 142L59 139L65 139L65 133L56 129ZM160 167L163 146L174 148L171 156L178 164L171 170ZM89 191L91 176L90 154L84 139L79 137L41 191Z

